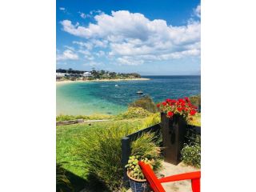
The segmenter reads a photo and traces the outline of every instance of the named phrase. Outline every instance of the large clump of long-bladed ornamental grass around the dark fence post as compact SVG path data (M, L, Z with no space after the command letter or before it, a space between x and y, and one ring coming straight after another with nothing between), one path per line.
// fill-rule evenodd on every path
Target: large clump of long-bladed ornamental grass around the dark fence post
M90 174L104 182L111 191L119 191L122 188L121 139L137 130L138 127L119 124L94 130L82 138L78 155L86 163ZM132 142L132 153L143 157L155 157L158 148L156 144L151 143L153 138L154 134L144 134Z

